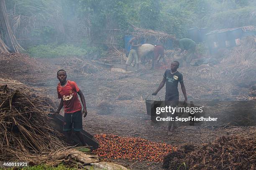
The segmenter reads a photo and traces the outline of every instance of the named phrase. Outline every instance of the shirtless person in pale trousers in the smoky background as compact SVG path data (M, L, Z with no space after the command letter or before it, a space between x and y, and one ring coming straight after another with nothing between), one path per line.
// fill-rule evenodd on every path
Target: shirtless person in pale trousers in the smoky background
M127 59L127 61L125 63L125 71L127 71L127 66L131 65L133 60L134 60L134 64L137 65L137 70L138 70L139 60L138 60L137 48L139 46L141 46L141 44L139 44L138 41L139 41L139 37L138 36L133 37L129 41L129 43L131 44L131 51L130 51L128 59Z

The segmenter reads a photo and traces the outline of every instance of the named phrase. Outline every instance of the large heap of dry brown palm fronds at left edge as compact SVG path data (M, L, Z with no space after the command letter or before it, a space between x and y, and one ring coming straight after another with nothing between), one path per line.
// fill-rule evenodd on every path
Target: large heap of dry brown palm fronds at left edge
M61 134L47 122L49 107L51 101L31 87L12 80L0 82L0 161L64 147Z

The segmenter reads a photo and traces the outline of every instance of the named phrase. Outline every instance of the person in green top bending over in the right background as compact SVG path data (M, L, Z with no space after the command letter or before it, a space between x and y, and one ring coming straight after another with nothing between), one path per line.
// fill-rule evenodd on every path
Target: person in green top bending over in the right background
M191 60L194 57L195 47L196 43L195 41L189 39L189 38L182 38L182 39L176 39L175 40L177 44L179 44L179 47L181 51L178 55L180 55L182 52L187 50L187 55L184 56L184 61L186 62L187 66L190 64Z

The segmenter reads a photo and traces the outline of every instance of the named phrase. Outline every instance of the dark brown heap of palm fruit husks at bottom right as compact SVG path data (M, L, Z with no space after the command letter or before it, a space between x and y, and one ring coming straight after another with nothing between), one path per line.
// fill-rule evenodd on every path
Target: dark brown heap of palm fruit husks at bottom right
M255 128L249 134L225 135L211 143L185 144L164 158L168 170L253 170L256 166Z

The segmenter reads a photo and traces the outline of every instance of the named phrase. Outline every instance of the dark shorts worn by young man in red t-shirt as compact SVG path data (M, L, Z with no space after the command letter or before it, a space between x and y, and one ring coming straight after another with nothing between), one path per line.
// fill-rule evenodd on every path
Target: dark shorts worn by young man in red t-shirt
M83 129L82 123L82 110L74 113L64 113L63 131L72 130L72 124L74 123L74 131L79 132Z

